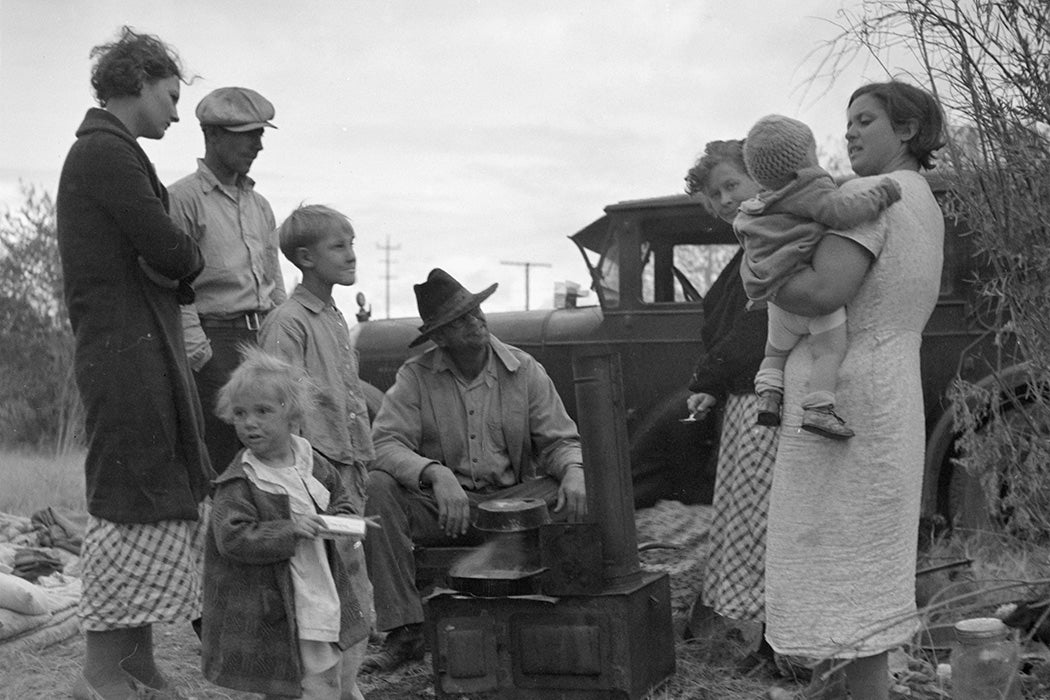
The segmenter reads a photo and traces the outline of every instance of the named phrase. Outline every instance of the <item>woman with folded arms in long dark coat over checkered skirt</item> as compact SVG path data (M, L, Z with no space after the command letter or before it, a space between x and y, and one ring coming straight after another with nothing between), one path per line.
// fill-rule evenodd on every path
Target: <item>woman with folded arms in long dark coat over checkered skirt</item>
M201 510L213 472L178 304L204 261L168 216L167 192L136 139L161 139L178 121L182 75L166 44L128 27L91 56L102 108L77 130L58 193L88 441L86 655L74 697L146 688L177 697L154 665L152 624L201 610Z

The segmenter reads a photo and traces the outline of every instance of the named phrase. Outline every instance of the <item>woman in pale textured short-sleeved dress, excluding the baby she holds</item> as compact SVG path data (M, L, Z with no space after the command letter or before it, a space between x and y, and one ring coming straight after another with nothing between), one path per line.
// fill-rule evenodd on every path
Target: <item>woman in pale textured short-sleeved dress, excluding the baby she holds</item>
M856 90L846 113L850 166L843 188L891 177L901 200L876 221L836 231L775 303L802 315L848 307L848 351L837 401L862 419L847 441L800 429L813 370L808 339L785 367L770 496L766 639L823 659L805 698L888 697L887 652L911 638L916 533L925 444L919 348L938 298L944 224L920 170L944 145L944 116L925 90L892 81ZM844 673L841 673L844 672ZM784 691L770 697L788 698Z

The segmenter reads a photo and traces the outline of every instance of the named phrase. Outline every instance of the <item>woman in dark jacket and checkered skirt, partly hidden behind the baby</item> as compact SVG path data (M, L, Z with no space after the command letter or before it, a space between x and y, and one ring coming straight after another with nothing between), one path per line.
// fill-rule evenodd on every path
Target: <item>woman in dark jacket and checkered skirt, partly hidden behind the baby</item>
M709 143L686 183L708 211L729 222L759 190L744 168L741 141ZM712 613L757 623L765 618L765 511L778 430L755 424L755 373L764 355L766 316L764 309L747 311L742 255L736 252L704 298L704 353L689 383L691 413L721 412L711 549L691 627ZM763 640L741 671L772 661Z

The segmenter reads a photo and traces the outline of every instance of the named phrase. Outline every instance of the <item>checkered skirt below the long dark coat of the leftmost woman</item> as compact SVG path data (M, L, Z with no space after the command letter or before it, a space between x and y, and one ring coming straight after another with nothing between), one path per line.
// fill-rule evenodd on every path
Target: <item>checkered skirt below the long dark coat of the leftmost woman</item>
M85 632L201 617L210 507L197 521L112 523L89 516L78 614Z

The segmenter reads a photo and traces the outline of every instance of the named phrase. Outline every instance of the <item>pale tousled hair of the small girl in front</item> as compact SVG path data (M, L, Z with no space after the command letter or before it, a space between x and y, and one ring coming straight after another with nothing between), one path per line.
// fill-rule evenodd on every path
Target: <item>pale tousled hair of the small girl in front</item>
M245 343L238 348L240 364L218 390L215 415L227 423L233 422L233 405L247 389L269 387L293 421L301 421L313 402L313 385L306 372L260 347Z

